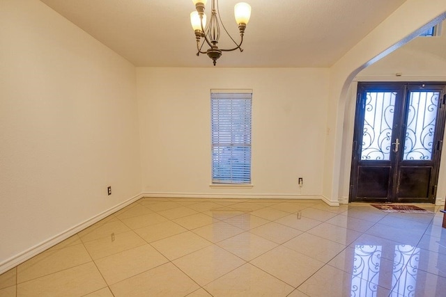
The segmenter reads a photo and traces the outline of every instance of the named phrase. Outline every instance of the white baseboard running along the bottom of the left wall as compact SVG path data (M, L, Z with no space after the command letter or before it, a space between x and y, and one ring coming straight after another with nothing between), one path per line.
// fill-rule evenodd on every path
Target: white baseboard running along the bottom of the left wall
M52 246L55 246L57 243L60 243L61 241L64 241L65 239L68 239L68 237L75 235L77 232L84 230L86 227L90 227L94 223L97 223L98 221L102 220L102 218L105 218L111 214L114 214L116 211L123 209L128 204L131 204L137 200L139 200L141 197L143 197L142 194L135 195L134 197L125 200L124 202L121 202L117 204L116 206L107 209L106 211L103 211L102 213L93 216L92 218L89 218L88 220L85 220L82 223L79 223L78 225L75 225L74 227L71 227L70 229L61 232L60 234L47 239L46 241L43 241L42 243L38 243L36 246L33 246L32 248L29 248L28 250L25 250L24 252L20 252L20 254L15 255L13 257L10 257L9 259L6 259L6 261L3 261L0 263L0 274L3 272L8 271L10 268L13 268L23 262L25 262L28 259L31 259L35 255L38 255L40 252L43 252L47 250L48 248L51 248Z

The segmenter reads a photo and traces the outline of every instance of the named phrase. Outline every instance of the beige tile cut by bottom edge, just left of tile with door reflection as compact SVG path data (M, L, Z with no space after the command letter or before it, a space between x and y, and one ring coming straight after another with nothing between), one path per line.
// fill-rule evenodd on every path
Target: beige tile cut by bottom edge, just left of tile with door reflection
M204 289L214 297L286 296L293 287L251 264L245 264L222 276Z

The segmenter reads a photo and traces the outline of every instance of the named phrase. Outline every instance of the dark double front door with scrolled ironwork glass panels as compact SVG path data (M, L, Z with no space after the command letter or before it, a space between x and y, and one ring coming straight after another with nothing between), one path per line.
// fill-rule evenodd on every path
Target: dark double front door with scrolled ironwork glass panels
M445 87L358 83L350 202L435 202Z

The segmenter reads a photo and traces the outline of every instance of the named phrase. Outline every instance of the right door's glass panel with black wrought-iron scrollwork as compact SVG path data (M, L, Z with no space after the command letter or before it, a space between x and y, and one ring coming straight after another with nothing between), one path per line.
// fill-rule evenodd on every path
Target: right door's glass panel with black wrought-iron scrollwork
M403 160L431 160L440 92L410 92Z

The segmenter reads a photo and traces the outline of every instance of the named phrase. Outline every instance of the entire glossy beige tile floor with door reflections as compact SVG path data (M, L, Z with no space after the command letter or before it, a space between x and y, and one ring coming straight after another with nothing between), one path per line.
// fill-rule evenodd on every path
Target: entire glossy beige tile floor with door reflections
M446 296L443 214L142 198L0 275L0 296Z

